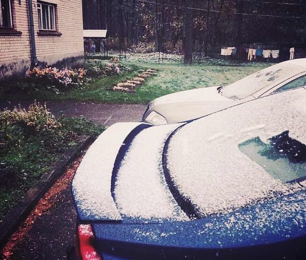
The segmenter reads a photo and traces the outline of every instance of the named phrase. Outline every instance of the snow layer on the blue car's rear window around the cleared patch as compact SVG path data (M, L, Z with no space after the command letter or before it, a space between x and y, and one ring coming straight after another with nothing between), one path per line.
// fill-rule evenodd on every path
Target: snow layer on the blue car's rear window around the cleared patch
M306 90L257 99L181 127L170 139L167 168L179 193L198 214L229 211L255 200L288 193L292 185L273 179L238 144L289 130L306 143ZM182 142L184 140L184 142ZM305 169L306 170L306 169Z

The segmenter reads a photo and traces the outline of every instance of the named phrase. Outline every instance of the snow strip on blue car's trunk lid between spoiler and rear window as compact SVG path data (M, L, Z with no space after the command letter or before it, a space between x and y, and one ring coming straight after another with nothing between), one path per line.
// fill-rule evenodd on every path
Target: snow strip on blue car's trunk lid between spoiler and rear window
M174 200L162 169L165 140L182 124L144 129L132 141L118 170L115 202L122 218L189 220Z

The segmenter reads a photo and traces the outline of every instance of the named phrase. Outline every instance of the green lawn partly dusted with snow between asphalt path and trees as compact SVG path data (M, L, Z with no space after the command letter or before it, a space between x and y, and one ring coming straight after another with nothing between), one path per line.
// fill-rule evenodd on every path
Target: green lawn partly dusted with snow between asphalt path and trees
M153 63L139 62L129 59L122 63L131 68L131 71L121 75L113 75L90 84L84 89L75 89L64 95L53 96L55 100L79 100L102 103L129 103L147 104L152 99L169 93L192 88L208 87L215 85L227 85L233 83L270 63L252 63L244 66L215 65L215 64L192 64L181 63ZM138 70L154 69L157 76L147 79L135 93L113 91L115 83L130 79L137 74Z

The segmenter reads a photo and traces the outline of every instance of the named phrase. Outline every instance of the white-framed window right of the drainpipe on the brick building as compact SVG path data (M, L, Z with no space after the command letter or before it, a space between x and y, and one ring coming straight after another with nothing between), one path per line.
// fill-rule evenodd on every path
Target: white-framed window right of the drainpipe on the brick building
M55 5L37 2L37 16L39 30L56 31Z

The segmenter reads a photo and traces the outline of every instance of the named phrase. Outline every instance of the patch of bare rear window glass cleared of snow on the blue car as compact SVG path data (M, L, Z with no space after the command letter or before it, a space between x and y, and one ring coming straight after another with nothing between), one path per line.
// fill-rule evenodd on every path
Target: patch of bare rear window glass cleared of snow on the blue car
M306 145L291 138L289 131L271 137L268 143L255 137L238 147L274 179L291 182L306 177Z

